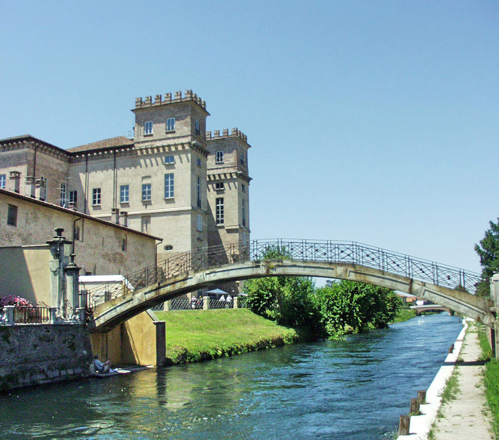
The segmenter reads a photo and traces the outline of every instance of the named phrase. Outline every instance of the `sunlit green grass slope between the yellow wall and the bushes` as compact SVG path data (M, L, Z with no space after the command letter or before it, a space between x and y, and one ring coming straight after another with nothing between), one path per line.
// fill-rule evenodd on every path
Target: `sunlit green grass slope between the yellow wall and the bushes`
M292 344L296 330L247 309L155 312L166 322L168 364L197 362Z

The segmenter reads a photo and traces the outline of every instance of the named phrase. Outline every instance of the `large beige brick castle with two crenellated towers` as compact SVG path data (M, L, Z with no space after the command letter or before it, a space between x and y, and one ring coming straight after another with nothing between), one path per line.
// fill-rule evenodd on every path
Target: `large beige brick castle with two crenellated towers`
M30 135L0 140L0 189L161 237L158 260L248 242L246 136L206 131L206 104L191 90L136 98L132 112L133 139L67 150Z

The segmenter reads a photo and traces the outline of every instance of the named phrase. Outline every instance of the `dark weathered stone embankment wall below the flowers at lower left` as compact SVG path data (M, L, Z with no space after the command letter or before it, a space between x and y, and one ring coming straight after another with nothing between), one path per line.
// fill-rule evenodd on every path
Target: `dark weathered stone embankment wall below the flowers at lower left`
M89 376L92 360L82 324L0 326L0 391Z

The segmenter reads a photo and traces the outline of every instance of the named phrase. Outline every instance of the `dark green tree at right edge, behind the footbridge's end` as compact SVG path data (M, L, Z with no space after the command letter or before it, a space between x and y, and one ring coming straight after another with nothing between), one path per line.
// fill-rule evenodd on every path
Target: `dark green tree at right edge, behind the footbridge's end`
M489 222L490 229L485 231L485 236L480 244L475 244L475 252L480 257L482 266L482 280L477 284L477 294L490 296L490 278L499 272L499 218L498 222Z

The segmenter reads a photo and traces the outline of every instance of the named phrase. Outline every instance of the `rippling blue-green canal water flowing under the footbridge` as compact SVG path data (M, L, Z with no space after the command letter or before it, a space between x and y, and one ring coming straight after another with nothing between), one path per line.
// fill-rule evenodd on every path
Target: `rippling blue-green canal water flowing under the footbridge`
M0 397L0 438L393 438L461 328L430 315L340 342L16 390Z

